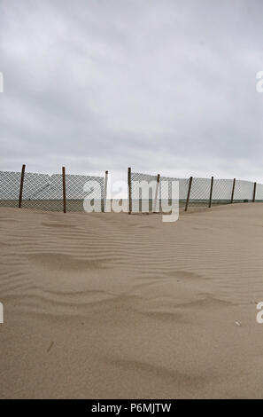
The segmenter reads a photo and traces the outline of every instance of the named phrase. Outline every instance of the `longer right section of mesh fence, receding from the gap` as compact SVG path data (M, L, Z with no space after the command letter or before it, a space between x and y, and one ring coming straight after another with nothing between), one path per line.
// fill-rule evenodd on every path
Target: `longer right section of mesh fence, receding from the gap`
M263 202L263 185L250 181L212 178L176 178L130 172L128 196L131 212L147 211L142 195L143 182L151 184L149 193L149 211L159 211L162 201L169 204L174 200L173 183L179 185L179 209L201 209L213 205L236 202ZM146 190L146 189L145 189Z

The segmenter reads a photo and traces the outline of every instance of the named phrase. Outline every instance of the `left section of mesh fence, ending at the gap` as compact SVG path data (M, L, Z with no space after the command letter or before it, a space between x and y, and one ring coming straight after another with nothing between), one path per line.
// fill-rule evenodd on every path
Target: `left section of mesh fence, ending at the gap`
M0 171L0 206L47 211L83 211L84 199L104 207L104 177ZM88 184L86 189L84 185ZM90 187L89 187L90 185Z

